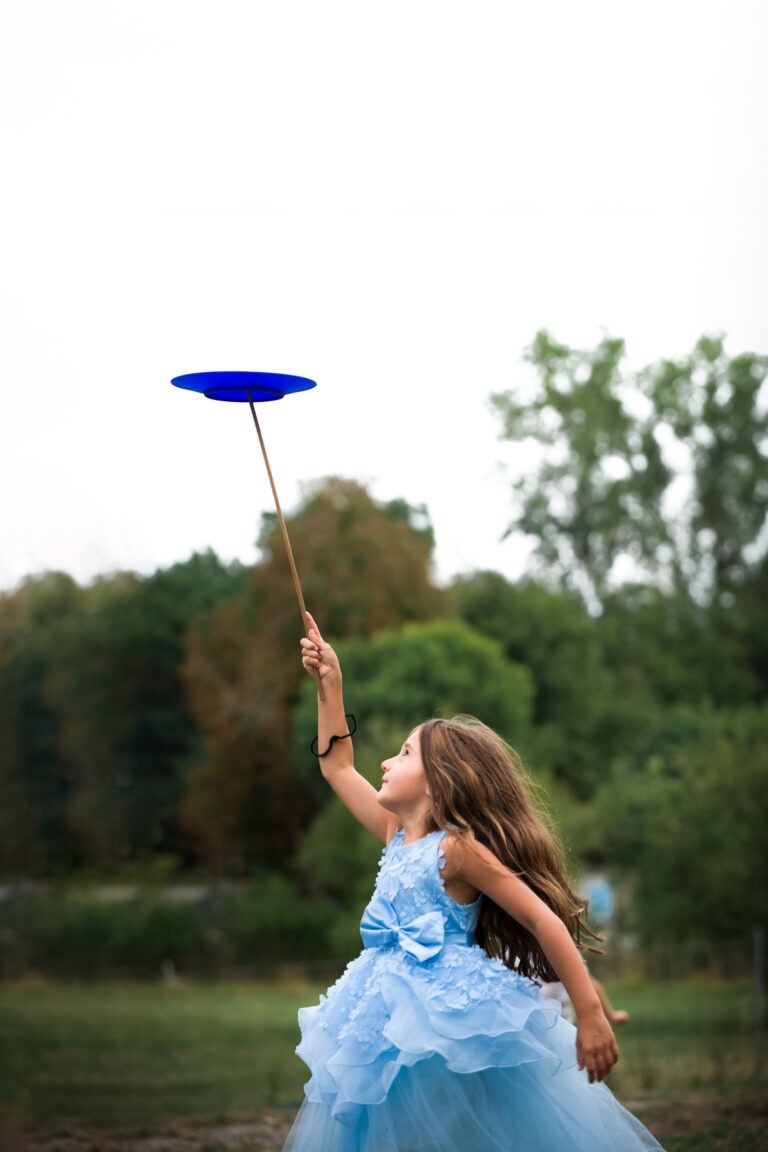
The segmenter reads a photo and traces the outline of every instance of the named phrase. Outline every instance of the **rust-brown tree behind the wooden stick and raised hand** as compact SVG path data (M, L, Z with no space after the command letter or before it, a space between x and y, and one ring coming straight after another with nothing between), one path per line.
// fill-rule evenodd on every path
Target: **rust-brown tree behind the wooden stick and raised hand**
M432 583L423 509L378 503L359 484L329 478L305 490L287 523L306 606L328 635L370 636L448 611ZM274 516L265 517L259 544L264 559L246 594L198 623L184 670L207 746L182 821L222 869L287 863L319 803L292 758L302 631Z

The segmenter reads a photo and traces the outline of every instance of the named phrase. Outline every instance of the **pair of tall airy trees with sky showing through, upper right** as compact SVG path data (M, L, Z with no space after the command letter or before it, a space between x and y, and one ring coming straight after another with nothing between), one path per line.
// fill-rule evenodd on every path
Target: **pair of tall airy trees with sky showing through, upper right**
M731 358L705 336L682 361L628 373L623 341L576 350L542 331L526 359L531 395L492 396L503 437L539 452L509 531L593 611L628 571L723 602L768 543L768 357Z

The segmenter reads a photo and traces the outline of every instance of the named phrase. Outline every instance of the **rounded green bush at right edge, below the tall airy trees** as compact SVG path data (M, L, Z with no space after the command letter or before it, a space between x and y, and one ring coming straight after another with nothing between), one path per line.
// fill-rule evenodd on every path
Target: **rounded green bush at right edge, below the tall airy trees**
M596 818L631 867L646 943L727 940L768 923L768 708L671 714L616 766Z

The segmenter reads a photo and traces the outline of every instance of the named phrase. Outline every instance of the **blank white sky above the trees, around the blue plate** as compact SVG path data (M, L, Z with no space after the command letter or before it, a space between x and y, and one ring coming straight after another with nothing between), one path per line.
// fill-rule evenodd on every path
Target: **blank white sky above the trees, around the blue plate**
M510 576L491 392L535 331L768 353L765 0L6 0L0 589L257 559L303 480ZM504 470L507 469L507 470ZM297 556L301 575L301 558Z

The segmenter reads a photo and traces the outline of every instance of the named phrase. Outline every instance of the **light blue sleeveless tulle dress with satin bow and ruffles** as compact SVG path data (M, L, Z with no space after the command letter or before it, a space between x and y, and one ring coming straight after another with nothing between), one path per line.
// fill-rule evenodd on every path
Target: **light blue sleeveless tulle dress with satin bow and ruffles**
M283 1152L660 1150L578 1070L560 1005L473 942L480 900L446 892L443 835L394 836L363 953L299 1011L311 1078Z

